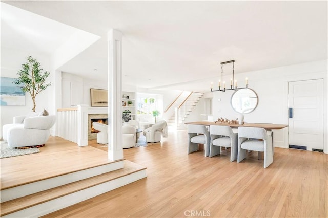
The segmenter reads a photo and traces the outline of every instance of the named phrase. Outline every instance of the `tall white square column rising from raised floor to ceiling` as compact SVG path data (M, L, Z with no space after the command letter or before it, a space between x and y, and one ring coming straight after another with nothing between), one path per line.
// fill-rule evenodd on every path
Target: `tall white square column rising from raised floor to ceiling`
M108 31L108 158L123 158L122 148L122 33Z

